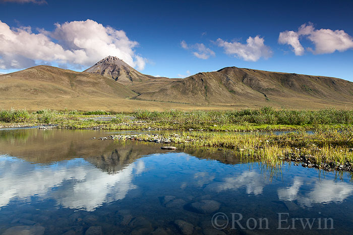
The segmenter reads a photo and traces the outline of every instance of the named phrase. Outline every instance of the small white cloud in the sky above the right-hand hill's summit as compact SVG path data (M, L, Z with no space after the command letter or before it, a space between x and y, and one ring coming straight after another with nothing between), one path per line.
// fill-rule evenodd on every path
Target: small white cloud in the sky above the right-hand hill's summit
M227 42L218 38L216 44L224 48L228 55L240 57L246 61L257 61L261 57L269 58L272 55L271 49L264 44L264 39L259 36L249 37L247 44L240 42Z

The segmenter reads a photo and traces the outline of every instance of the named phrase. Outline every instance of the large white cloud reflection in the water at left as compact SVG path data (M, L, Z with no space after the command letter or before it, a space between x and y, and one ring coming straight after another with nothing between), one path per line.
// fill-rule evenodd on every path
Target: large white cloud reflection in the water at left
M35 195L53 198L64 207L92 211L102 203L124 199L136 188L132 183L134 172L141 174L145 168L138 161L109 175L82 162L70 160L42 167L0 158L0 207L12 199L31 200Z

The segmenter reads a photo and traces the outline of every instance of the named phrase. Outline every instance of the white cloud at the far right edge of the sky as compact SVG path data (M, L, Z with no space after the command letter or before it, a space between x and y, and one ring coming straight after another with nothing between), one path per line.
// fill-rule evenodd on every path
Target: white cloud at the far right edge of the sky
M312 23L303 24L297 32L284 31L279 33L278 42L293 47L296 55L303 55L304 48L300 38L310 40L315 48L307 48L313 54L329 54L337 51L346 51L353 48L353 38L343 30L315 29Z

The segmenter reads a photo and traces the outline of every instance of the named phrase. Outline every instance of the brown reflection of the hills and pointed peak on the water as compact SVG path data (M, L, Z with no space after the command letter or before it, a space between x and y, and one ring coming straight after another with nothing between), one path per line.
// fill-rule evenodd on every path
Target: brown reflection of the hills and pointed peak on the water
M105 131L65 129L18 129L0 131L0 154L17 156L32 163L49 164L84 158L97 168L114 173L127 164L152 153L166 152L160 144L137 141L101 141L92 137L107 136ZM25 138L22 138L25 137ZM186 149L198 158L236 164L238 159L223 151L210 154L203 149Z

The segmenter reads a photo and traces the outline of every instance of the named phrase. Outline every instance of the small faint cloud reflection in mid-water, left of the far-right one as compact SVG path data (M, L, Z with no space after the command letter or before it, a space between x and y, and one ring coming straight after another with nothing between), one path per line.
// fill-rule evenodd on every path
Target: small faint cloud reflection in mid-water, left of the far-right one
M246 187L248 194L261 194L266 185L265 178L256 171L244 172L238 177L228 177L224 182L211 184L211 188L220 192Z

